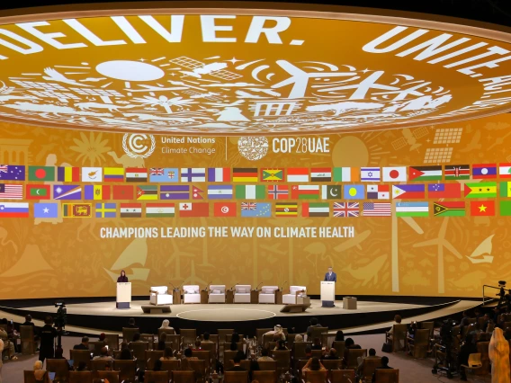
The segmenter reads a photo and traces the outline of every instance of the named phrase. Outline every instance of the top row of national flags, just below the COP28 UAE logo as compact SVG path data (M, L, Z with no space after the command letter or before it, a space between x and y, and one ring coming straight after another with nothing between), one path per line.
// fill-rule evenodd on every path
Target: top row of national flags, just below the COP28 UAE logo
M0 165L0 181L62 183L354 183L511 178L511 163L384 167L72 167Z

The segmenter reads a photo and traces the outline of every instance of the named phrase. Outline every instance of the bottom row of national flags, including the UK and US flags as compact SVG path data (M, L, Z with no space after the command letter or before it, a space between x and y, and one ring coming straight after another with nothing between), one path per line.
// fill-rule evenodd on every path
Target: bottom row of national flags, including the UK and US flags
M210 206L212 215L210 216ZM274 209L273 209L274 206ZM496 215L495 200L472 200L469 204L472 217L493 217ZM184 203L62 203L37 202L33 204L34 218L172 218L179 217L242 217L242 218L282 218L282 217L390 217L390 202L302 202L299 215L298 202L184 202ZM500 200L500 216L511 216L511 200ZM94 208L94 211L93 211ZM142 212L145 215L142 216ZM239 213L239 214L238 214ZM396 217L464 217L464 201L438 202L396 202ZM28 202L0 203L0 218L28 218Z

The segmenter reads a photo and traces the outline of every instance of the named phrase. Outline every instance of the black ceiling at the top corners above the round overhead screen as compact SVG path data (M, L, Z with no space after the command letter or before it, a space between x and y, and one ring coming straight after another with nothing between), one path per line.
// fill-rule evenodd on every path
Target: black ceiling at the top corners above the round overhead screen
M191 1L193 3L193 0ZM267 2L268 1L260 1ZM45 1L3 1L0 4L0 10L15 9L32 6L43 5L64 5L64 4L90 4L90 3L119 3L117 1L58 1L58 0L45 0ZM122 3L131 3L130 1L123 1ZM137 1L137 3L143 3ZM172 4L172 1L165 3ZM214 4L214 2L211 1ZM223 2L225 4L225 2ZM231 2L233 7L242 3L240 1ZM276 2L273 3L299 3L299 4L329 4L329 5L347 5L359 7L382 8L396 11L408 11L417 13L432 13L451 17L460 17L464 19L471 19L479 22L492 22L500 25L511 26L511 0L429 0L429 1L367 1L367 0L354 0L354 1L289 1L289 2Z

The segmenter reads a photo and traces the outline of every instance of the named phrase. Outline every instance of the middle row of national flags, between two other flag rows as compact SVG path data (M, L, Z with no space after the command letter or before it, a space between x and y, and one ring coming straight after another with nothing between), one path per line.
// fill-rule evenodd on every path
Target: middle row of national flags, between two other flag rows
M203 189L203 190L202 190ZM0 183L0 200L424 200L495 198L498 184L403 183L336 185L128 185ZM511 197L511 182L501 182L500 197Z

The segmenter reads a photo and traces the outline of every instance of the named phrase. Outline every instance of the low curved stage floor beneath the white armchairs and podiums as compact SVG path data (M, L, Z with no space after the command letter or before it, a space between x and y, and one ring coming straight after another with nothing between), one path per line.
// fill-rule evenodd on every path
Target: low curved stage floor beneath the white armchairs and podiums
M313 316L318 317L319 323L332 331L342 329L348 334L361 334L388 329L396 314L403 317L403 323L411 320L426 321L452 316L480 304L480 301L459 299L444 299L443 302L428 304L359 299L357 309L348 310L343 308L342 300L336 300L336 307L321 307L320 300L312 299L311 306L303 313L282 313L283 305L187 304L171 305L172 312L168 314L144 314L141 307L148 305L148 300L134 300L129 309L115 308L112 299L89 299L81 303L76 299L66 300L69 302L67 331L74 334L119 333L121 327L128 324L129 317L134 317L141 331L149 334L154 333L165 318L170 319L175 329L196 328L198 332L209 331L211 334L215 334L219 328L236 328L240 334L251 335L255 334L255 328L269 328L277 324L295 327L296 331L303 332ZM37 305L32 301L33 306L29 306L28 301L25 305L23 301L17 301L15 305L6 303L0 302L0 316L14 316L15 322L22 323L26 314L42 320L47 315L55 316L56 312L56 308L49 305L49 302Z

